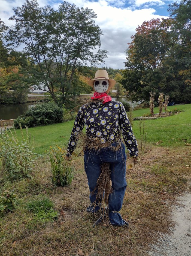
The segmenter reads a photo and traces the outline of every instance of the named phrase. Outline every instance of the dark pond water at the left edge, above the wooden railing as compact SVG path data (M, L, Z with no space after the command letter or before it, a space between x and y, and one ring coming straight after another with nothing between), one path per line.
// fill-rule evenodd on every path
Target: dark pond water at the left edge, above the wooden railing
M29 110L36 103L15 103L15 104L0 104L0 119L15 119L16 117L24 114L27 110Z

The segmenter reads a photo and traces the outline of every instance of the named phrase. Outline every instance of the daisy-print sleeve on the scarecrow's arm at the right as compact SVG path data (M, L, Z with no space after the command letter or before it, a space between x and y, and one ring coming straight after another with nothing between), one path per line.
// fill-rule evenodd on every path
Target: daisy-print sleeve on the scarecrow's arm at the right
M131 124L129 122L125 108L122 103L121 103L121 113L119 116L119 125L120 125L120 130L122 131L122 134L123 134L125 145L129 151L130 156L137 157L138 156L137 140L135 139Z

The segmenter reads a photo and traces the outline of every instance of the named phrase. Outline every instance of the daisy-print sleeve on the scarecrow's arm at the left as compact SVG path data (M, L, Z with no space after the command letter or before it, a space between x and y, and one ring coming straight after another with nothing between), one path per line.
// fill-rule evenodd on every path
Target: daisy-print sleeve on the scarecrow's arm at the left
M66 156L72 155L72 152L74 151L78 143L78 133L79 131L83 130L83 127L84 127L84 119L83 119L82 109L80 108L76 116L76 119L74 121L74 126L72 128L71 136L68 142L68 149L67 149Z

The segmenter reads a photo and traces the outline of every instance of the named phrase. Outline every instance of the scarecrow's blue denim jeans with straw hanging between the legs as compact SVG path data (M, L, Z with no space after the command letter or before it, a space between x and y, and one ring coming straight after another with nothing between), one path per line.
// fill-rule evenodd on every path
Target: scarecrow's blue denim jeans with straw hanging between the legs
M125 225L119 211L122 208L123 197L125 195L126 182L126 154L125 145L117 151L112 151L110 148L102 148L100 151L95 149L84 150L84 169L87 174L88 185L90 189L90 206L87 211L95 212L100 209L96 201L96 192L91 192L96 187L96 182L101 174L101 163L107 162L111 170L111 182L113 192L109 195L109 220L112 225ZM115 146L116 142L112 143ZM93 204L96 207L93 208ZM92 205L92 206L91 206Z

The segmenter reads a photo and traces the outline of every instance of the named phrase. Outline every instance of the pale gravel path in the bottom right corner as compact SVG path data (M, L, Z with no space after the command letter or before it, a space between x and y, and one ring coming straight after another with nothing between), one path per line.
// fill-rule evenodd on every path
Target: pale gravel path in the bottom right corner
M185 193L177 198L172 206L171 234L159 233L156 244L151 245L148 255L153 256L190 256L191 255L191 194Z

